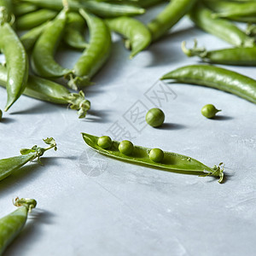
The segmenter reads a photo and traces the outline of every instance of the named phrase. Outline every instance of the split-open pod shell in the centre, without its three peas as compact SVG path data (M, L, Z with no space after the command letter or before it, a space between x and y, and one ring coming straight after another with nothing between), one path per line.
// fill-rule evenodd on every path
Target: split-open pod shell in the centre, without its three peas
M219 166L210 168L205 166L200 161L183 154L176 154L172 152L164 152L164 158L160 163L156 163L149 159L149 152L151 148L144 148L141 146L134 146L131 155L121 154L119 152L119 142L113 141L112 145L108 149L104 149L98 146L97 141L99 137L90 135L88 133L82 133L84 142L96 152L107 155L117 160L124 160L131 162L132 164L143 165L153 167L169 172L179 172L185 174L195 174L200 176L215 176L219 177L219 183L223 181L224 173L223 169Z

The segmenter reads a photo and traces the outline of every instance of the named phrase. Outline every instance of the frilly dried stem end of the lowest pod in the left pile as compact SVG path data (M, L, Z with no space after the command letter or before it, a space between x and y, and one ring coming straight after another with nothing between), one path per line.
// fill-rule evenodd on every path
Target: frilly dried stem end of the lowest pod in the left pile
M84 98L84 92L82 90L79 93L70 93L64 99L70 104L71 109L79 110L79 119L83 119L90 109L90 102Z

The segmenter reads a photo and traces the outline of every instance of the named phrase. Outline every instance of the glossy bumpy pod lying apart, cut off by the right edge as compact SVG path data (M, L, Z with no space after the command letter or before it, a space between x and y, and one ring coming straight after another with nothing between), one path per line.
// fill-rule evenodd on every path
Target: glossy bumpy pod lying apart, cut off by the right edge
M230 92L256 103L256 80L222 67L190 65L166 73L161 79L173 79L186 84L198 84Z

